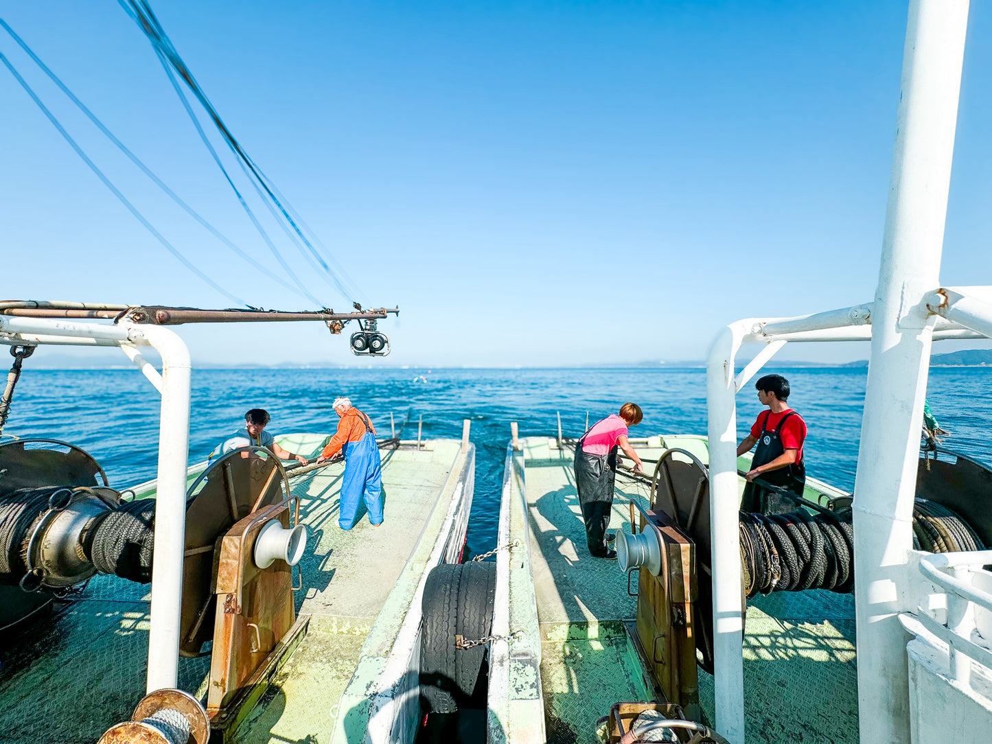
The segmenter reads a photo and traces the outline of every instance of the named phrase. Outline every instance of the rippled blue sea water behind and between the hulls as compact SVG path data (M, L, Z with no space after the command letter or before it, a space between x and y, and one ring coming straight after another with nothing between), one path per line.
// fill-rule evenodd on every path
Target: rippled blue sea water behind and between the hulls
M810 475L850 490L864 402L864 368L769 368L789 378L790 403L806 419ZM415 381L415 375L418 376ZM427 382L419 380L424 375ZM189 462L198 462L238 429L249 408L272 414L269 430L331 432L335 396L347 395L372 418L380 435L409 421L404 438L461 436L472 422L475 499L468 530L473 554L495 546L500 487L510 423L520 434L554 436L556 413L565 435L582 433L625 401L644 409L635 435L705 434L705 373L701 368L637 369L264 369L193 370ZM930 405L951 432L945 444L992 462L992 368L930 371ZM70 441L103 465L116 488L155 477L158 392L135 371L32 370L18 385L5 433ZM753 389L738 396L741 436L762 410ZM388 515L387 515L388 516Z

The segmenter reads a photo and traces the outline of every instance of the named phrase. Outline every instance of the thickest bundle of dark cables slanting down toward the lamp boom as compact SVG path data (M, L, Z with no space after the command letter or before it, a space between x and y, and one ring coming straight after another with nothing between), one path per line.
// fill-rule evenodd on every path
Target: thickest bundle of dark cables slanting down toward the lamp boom
M309 260L312 259L316 261L318 268L322 269L324 279L329 279L332 286L334 286L342 294L342 296L352 299L355 293L346 288L344 282L347 281L352 288L354 288L354 282L347 278L343 271L339 272L341 276L338 276L337 273L333 272L324 260L324 257L313 246L313 243L307 235L304 234L300 224L298 224L297 220L294 219L291 209L287 206L287 204L283 203L285 198L281 199L279 195L277 195L277 191L271 185L268 177L266 177L254 161L252 161L238 140L227 128L226 124L224 124L223 120L220 118L220 114L213 107L213 104L207 98L205 92L199 86L199 83L196 82L192 72L186 66L186 62L183 61L179 52L169 39L168 34L166 34L165 30L162 28L162 25L159 23L158 18L155 16L155 13L152 11L148 2L146 0L118 0L118 2L128 13L128 15L130 15L131 18L137 22L139 28L152 43L152 46L159 55L160 59L164 59L164 63L168 62L172 69L174 69L180 77L183 78L186 86L192 92L193 96L199 101L200 105L203 106L207 115L213 121L214 126L216 126L217 131L227 143L227 146L239 159L242 167L247 168L250 172L249 175L253 177L253 184L256 187L260 186L265 191L267 196L265 200L267 204L274 204L275 208L282 214L283 219L279 220L280 224L283 226L284 230L287 231L287 234L291 237L291 239L293 239L298 249L304 254L304 256L307 256ZM289 227L287 227L287 223ZM290 228L292 228L292 233L290 232Z

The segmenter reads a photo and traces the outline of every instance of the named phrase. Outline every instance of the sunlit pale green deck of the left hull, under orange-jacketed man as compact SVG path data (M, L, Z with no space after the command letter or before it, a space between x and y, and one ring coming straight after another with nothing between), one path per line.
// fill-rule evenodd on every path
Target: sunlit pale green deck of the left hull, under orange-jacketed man
M312 437L314 450L320 441ZM303 438L282 443L308 453ZM350 532L337 526L342 464L291 479L309 529L305 588L296 595L309 627L238 725L238 742L362 740L365 691L386 666L438 536L451 530L463 539L473 458L446 439L383 450L384 524L363 518ZM447 550L457 558L462 544ZM130 718L145 690L150 598L147 585L96 576L51 617L5 638L0 741L92 744ZM208 656L180 660L179 685L201 698L208 674Z

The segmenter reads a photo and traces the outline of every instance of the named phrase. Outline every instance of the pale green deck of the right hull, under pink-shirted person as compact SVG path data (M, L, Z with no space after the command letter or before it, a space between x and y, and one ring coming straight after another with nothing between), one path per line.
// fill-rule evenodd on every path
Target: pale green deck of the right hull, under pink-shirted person
M511 537L529 543L547 737L591 744L596 720L613 703L656 698L627 630L637 600L628 595L615 560L593 558L586 550L572 451L543 437L521 439L520 445L522 478L511 483L519 491L512 501L526 503L526 519ZM700 437L652 437L637 448L643 457L657 458L666 446L708 460ZM649 496L648 484L618 477L610 530L629 530L628 500L647 507ZM806 591L756 597L749 602L745 634L749 742L857 741L851 595ZM702 671L699 687L702 708L712 720L712 678Z

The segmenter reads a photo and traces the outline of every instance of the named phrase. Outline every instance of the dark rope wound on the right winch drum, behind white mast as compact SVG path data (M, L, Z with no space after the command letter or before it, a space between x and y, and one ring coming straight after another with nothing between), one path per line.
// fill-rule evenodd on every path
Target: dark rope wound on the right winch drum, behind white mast
M854 589L854 528L849 510L837 514L740 513L741 568L748 598L772 591ZM917 499L913 547L930 553L984 549L975 531L934 501Z

